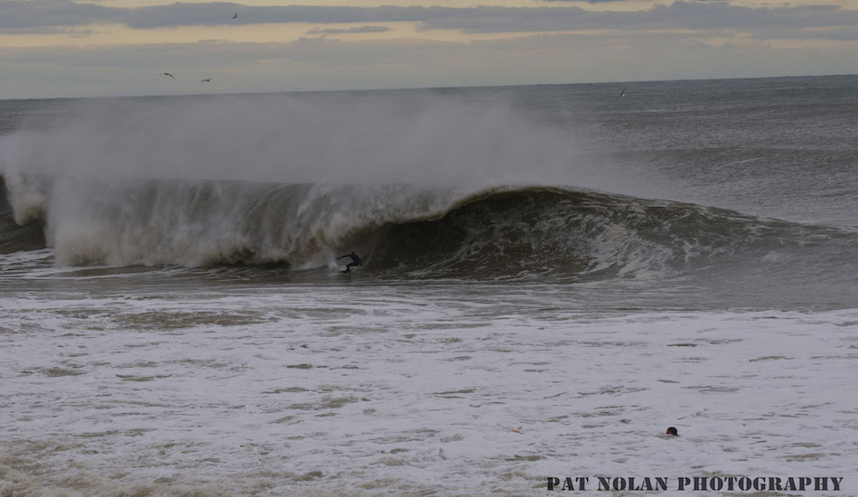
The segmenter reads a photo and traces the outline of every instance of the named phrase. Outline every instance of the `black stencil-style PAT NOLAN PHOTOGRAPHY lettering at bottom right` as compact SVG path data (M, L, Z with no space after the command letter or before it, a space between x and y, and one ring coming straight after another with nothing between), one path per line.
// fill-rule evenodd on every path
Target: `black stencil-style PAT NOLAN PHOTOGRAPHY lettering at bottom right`
M841 476L549 476L549 491L841 492Z

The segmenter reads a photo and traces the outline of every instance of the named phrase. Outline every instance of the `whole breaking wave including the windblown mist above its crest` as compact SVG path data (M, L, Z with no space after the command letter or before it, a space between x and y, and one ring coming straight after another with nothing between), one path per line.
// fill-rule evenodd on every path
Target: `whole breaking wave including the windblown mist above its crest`
M811 271L815 244L840 236L644 200L571 130L503 102L393 95L64 107L0 137L0 251L327 270L354 249L361 272L383 278L582 280L798 259Z

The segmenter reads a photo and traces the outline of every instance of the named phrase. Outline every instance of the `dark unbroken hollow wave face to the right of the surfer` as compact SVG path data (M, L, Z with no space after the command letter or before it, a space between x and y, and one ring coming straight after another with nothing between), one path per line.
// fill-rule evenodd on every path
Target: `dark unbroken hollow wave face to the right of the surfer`
M531 187L388 227L377 266L415 277L676 277L794 261L814 240L840 236L695 204Z

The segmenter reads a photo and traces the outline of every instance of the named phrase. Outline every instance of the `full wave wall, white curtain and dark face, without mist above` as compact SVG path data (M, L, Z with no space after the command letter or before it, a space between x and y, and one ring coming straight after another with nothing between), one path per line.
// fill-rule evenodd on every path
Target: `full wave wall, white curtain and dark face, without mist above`
M796 257L832 230L695 204L498 187L19 178L32 228L63 264L334 267L355 249L378 277L665 277ZM50 208L62 205L61 210ZM37 213L42 212L43 217ZM35 230L45 226L45 240Z

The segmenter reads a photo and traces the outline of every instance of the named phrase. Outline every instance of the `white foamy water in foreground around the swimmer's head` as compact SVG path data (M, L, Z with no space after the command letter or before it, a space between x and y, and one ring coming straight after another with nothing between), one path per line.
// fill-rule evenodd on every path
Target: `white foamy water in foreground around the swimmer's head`
M7 295L0 489L541 495L548 476L809 475L856 491L858 311L588 312L559 288Z

